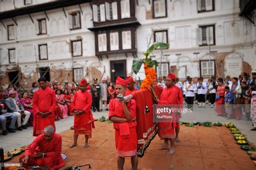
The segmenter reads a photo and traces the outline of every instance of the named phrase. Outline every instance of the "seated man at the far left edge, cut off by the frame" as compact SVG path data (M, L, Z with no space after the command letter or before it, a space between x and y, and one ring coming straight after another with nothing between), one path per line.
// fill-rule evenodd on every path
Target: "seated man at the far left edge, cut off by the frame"
M8 98L7 93L3 93L3 98ZM17 120L17 115L14 113L10 113L8 107L6 107L3 99L0 99L0 122L3 130L3 135L7 135L6 131L6 118L11 118L11 123L8 128L8 131L11 133L15 133L14 126Z

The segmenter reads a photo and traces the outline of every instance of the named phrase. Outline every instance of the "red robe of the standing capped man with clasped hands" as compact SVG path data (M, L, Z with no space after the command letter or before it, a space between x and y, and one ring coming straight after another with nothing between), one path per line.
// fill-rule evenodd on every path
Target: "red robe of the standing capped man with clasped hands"
M74 117L74 133L84 134L91 138L92 128L94 127L94 119L92 117L92 95L87 90L77 91L71 103L73 110L84 111L79 116L75 114Z

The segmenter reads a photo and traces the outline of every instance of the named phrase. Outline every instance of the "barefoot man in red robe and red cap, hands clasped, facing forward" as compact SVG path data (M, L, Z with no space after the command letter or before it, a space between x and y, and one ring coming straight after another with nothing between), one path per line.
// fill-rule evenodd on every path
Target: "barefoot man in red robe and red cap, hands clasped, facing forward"
M94 119L92 117L92 94L87 91L87 80L81 79L79 82L79 91L75 93L72 100L74 117L74 141L69 147L77 146L77 138L79 134L85 135L84 147L89 147L88 140L92 137L92 128Z

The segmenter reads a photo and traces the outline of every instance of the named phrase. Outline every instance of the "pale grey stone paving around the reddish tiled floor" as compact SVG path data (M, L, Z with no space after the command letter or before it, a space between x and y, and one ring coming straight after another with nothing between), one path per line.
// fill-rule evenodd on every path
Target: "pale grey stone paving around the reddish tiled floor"
M108 112L93 112L93 117L99 119L104 115L107 117ZM245 117L245 115L243 115ZM194 104L194 110L192 113L182 114L182 118L180 121L220 121L220 123L225 123L227 121L231 121L236 124L242 134L245 134L248 140L254 145L256 145L256 131L250 131L252 128L252 121L247 121L246 118L242 118L241 120L230 119L226 120L225 117L219 117L214 112L213 108L206 105L206 108L199 108L198 105ZM70 116L66 119L62 119L59 121L55 121L57 133L68 130L70 126L73 125L73 116ZM28 127L27 130L16 131L16 133L8 133L8 135L3 136L0 134L0 147L3 147L5 151L21 147L24 145L30 144L34 137L32 137L32 127ZM182 130L181 130L182 131Z

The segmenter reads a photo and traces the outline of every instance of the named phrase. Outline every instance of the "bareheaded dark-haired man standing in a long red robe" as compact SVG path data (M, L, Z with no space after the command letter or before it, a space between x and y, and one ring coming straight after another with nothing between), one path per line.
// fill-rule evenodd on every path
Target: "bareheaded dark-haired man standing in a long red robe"
M33 94L33 136L37 137L42 134L46 126L52 125L55 129L55 106L56 96L55 92L46 86L46 79L41 77L38 79L41 89Z

